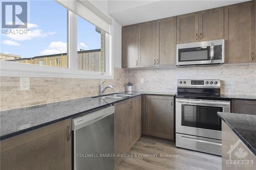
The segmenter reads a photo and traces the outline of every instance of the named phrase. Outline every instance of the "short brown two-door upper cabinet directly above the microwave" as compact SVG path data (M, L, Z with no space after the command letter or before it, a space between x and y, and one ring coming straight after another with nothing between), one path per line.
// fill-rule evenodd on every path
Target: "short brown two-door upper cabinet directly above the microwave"
M177 16L177 44L224 38L224 7Z

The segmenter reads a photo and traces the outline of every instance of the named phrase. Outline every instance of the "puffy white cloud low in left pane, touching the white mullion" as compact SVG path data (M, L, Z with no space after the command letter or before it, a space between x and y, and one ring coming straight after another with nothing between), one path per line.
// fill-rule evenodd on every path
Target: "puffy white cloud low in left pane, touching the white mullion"
M49 48L41 51L41 55L52 55L52 54L59 54L59 53L67 53L67 42L62 41L52 41Z

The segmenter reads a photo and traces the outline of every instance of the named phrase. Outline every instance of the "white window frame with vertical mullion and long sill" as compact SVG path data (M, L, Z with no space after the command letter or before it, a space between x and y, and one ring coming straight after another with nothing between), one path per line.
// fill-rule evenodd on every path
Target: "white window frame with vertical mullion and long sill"
M65 7L64 7L65 8ZM67 55L68 68L48 65L24 64L0 61L0 75L9 77L49 77L49 78L87 78L114 79L113 67L113 25L110 34L105 34L105 72L78 70L77 68L77 15L67 9Z

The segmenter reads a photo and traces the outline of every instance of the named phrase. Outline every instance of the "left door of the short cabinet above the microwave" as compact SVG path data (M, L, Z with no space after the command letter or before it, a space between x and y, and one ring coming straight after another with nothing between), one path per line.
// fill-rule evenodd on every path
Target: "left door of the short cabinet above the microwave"
M177 16L177 44L198 41L198 12Z

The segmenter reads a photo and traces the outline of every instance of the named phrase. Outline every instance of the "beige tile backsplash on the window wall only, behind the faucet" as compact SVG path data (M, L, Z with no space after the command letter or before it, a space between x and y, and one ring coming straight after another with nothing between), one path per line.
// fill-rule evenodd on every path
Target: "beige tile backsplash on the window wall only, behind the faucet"
M99 85L103 79L65 79L30 78L30 90L20 91L19 77L1 77L1 110L33 106L63 100L77 99L99 94ZM108 79L105 85L113 85L106 93L124 91L127 70L114 69L114 79Z

